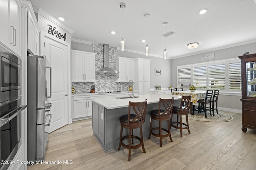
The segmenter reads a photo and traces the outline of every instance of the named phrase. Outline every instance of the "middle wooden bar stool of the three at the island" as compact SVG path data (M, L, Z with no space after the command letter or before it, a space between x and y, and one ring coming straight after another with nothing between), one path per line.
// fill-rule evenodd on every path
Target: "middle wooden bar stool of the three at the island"
M170 131L170 117L172 116L172 107L173 107L173 101L174 97L172 99L159 99L159 108L157 110L150 111L150 132L148 139L150 139L151 134L160 137L160 147L162 147L162 137L170 137L170 140L172 142L171 137L171 131ZM165 110L161 109L161 104L164 106ZM159 121L159 127L152 128L153 119ZM162 121L167 121L168 129L162 128ZM158 130L158 134L154 133L154 130ZM166 131L167 134L162 134L162 131Z

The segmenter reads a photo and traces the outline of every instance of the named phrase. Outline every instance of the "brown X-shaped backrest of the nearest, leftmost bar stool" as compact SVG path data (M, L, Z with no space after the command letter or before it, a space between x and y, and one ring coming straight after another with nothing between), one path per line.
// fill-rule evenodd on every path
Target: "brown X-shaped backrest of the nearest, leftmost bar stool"
M129 101L128 120L127 120L127 122L129 122L127 124L128 127L129 126L130 127L140 127L145 122L147 101L148 100L145 100L144 102L131 102L131 101ZM130 118L131 117L130 116L131 112L136 113L136 116L134 118Z

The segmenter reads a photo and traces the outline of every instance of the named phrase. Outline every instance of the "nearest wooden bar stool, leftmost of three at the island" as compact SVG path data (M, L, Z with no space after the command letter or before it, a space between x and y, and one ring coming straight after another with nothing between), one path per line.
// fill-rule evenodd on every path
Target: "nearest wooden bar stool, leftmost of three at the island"
M120 141L119 147L117 150L120 150L121 145L129 149L128 161L131 160L131 149L137 149L142 146L142 150L146 153L143 143L143 135L142 135L142 125L145 122L146 117L146 108L147 108L147 100L144 102L130 102L128 106L128 115L123 115L120 117L121 131L120 131ZM133 111L132 111L133 109ZM131 112L135 112L135 114L131 114ZM129 129L129 135L122 137L123 127ZM140 137L133 135L133 129L140 128ZM128 145L123 143L124 139L129 140ZM133 139L138 139L140 141L139 144L133 145ZM132 142L131 142L132 139Z

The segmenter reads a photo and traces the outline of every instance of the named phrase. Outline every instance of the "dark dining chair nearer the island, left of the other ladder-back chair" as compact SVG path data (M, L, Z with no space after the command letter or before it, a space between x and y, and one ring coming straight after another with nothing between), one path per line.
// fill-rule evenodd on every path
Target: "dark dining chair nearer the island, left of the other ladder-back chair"
M210 115L212 116L212 93L213 90L206 90L206 96L204 100L198 100L198 113L202 113L202 110L204 111L205 118L207 118L206 112L210 111ZM209 104L209 107L207 106ZM214 115L214 113L213 113Z

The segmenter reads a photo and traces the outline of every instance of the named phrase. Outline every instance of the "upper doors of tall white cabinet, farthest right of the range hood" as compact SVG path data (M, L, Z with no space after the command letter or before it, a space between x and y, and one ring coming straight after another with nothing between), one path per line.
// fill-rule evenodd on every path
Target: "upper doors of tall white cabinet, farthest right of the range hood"
M136 58L135 68L136 74L138 74L138 81L149 82L150 81L150 60Z

